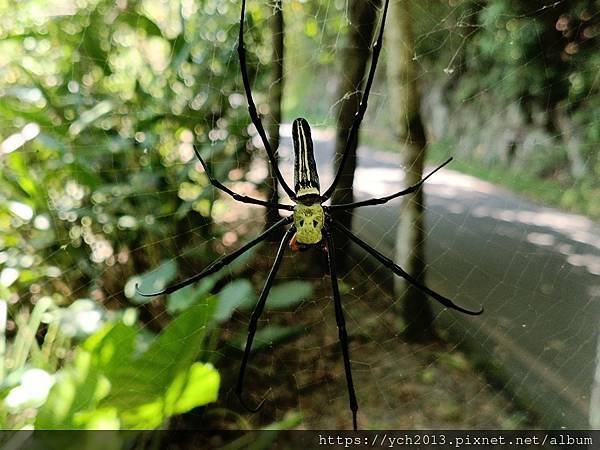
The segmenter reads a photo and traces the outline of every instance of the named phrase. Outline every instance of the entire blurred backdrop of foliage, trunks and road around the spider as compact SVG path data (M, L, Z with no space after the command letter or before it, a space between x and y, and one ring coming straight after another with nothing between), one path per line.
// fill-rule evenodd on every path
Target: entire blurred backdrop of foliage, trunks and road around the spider
M322 189L332 179L382 6L249 1L250 82L290 184L296 117L313 127ZM333 201L398 191L454 156L410 200L339 220L486 311L430 305L340 240L361 428L600 428L598 7L391 1ZM247 113L240 8L0 0L3 428L351 427L318 251L286 254L259 322L257 414L233 388L276 242L169 296L135 293L278 217L216 191L192 149L237 192L277 197Z

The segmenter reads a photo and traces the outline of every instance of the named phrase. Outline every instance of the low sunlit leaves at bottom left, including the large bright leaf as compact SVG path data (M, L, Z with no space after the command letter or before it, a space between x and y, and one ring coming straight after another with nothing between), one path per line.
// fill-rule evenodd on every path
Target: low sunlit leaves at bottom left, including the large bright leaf
M157 336L140 328L133 308L111 312L83 299L60 308L44 297L19 321L8 348L7 360L18 363L0 387L2 427L152 429L215 401L220 375L197 359L214 358L219 325L238 307L250 308L254 292L243 279L226 284L218 295L206 286L186 289L191 300L178 301L179 314ZM284 282L276 289L288 293L289 306L312 294L307 282ZM167 304L173 298L177 294ZM38 346L34 337L44 325L48 331ZM257 333L254 351L301 331L268 325ZM232 340L240 349L242 342L245 331ZM70 354L59 364L66 351Z

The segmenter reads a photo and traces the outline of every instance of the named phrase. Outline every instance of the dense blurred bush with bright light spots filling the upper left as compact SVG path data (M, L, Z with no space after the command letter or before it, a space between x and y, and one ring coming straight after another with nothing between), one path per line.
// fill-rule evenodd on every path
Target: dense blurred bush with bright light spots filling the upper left
M59 276L112 293L110 268L159 262L145 244L180 233L160 249L176 254L213 234L219 202L187 163L194 141L221 179L244 161L238 67L223 64L222 45L237 8L101 0L38 16L41 5L0 4L0 230L3 264L18 275L2 296L7 284L54 292ZM205 89L207 79L219 89ZM189 228L195 239L181 235ZM65 274L73 261L78 270Z

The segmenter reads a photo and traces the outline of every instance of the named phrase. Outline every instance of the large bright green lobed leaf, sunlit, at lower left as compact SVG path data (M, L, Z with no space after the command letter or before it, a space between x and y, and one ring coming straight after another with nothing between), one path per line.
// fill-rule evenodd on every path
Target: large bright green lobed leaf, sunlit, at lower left
M36 428L156 428L214 401L219 374L195 362L214 303L188 308L138 357L133 326L118 322L92 335L60 372Z

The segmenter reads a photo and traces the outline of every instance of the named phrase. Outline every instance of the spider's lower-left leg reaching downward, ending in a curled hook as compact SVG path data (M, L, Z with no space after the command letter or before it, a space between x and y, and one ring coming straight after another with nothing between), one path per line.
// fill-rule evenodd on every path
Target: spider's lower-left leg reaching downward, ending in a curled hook
M244 349L244 357L242 358L242 364L240 365L240 374L238 375L235 393L238 399L240 400L240 403L244 406L244 408L251 412L258 411L266 400L266 398L263 398L262 401L258 404L258 406L252 408L248 406L248 404L242 399L242 391L244 389L244 375L246 373L248 359L250 358L250 352L252 351L252 341L254 340L256 327L258 326L258 319L260 319L260 316L265 308L265 304L267 303L267 297L269 296L269 291L271 290L271 286L273 286L273 281L275 281L275 276L277 275L277 271L279 270L279 266L281 265L281 260L283 259L285 248L290 243L292 236L295 232L296 229L292 226L285 233L283 239L281 239L281 243L279 244L279 250L277 250L277 255L275 256L275 262L271 267L271 271L269 272L267 281L265 281L265 286L263 287L263 290L260 293L258 302L256 303L254 310L252 311L252 316L250 317L250 324L248 325L248 338L246 339L246 348Z

